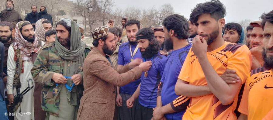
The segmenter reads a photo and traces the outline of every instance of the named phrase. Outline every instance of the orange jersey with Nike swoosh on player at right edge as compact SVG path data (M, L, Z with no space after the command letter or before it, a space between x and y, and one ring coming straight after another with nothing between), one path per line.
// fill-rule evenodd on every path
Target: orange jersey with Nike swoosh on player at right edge
M238 109L248 120L261 120L273 116L273 73L260 67L251 71L244 87ZM271 111L271 113L270 113ZM270 118L273 119L273 118Z

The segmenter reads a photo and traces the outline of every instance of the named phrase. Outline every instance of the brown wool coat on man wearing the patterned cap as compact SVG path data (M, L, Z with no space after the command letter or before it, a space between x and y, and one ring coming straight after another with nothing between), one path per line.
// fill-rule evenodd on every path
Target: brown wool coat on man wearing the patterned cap
M122 71L129 70L128 64ZM115 86L126 85L141 75L140 67L119 74L96 47L85 58L83 97L78 120L112 120L115 110Z

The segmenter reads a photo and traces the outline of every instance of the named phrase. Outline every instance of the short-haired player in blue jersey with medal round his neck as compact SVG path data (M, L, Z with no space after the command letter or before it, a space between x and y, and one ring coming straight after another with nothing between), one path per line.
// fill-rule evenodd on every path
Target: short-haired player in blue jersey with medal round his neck
M126 34L129 42L123 43L119 46L119 60L118 60L118 68L117 71L119 73L123 73L121 69L127 63L132 62L136 58L141 58L140 50L138 49L136 33L140 29L140 22L135 19L130 19L124 25L126 29ZM121 120L132 120L135 107L127 108L126 100L128 100L132 94L136 91L138 85L140 84L140 79L137 79L129 84L126 84L121 87L117 87L117 98L116 104L119 107L119 117ZM134 106L138 103L138 101L134 102Z

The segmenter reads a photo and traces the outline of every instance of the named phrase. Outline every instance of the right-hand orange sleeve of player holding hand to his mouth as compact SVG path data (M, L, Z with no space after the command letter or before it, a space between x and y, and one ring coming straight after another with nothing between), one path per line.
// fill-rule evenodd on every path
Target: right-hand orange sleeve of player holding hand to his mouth
M227 69L236 70L242 84L246 82L247 75L251 70L251 52L247 46L243 45L233 53L227 61Z

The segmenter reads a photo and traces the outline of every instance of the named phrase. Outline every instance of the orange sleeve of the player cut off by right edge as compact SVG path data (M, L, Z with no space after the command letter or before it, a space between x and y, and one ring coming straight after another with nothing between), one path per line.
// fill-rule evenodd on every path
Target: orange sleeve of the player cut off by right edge
M250 83L250 80L251 79L250 79L250 74L249 74L248 78L247 78L247 82L244 87L243 96L242 96L242 99L241 99L241 102L240 102L240 105L238 108L238 111L244 115L247 115L247 110L248 110L248 93L249 93L248 84Z

